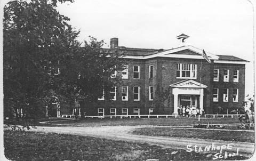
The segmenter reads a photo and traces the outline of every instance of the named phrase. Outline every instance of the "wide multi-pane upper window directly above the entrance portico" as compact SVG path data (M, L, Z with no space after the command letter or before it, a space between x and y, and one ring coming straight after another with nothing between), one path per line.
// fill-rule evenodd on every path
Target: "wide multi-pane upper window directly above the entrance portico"
M194 64L177 64L177 78L196 78L197 66Z

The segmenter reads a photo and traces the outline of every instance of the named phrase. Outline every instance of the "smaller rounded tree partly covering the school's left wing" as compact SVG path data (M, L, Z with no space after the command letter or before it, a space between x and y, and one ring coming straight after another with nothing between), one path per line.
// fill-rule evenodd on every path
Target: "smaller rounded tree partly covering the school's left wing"
M72 94L69 98L73 102L76 99L84 105L81 106L82 114L83 108L93 107L98 98L102 98L103 93L105 100L111 100L109 92L114 86L122 83L121 75L115 73L123 70L126 62L121 58L124 53L117 49L102 49L104 41L90 37L90 42L84 43L79 52L70 60L67 59L68 66L63 66L65 69L61 69L60 74L61 78L66 79L65 85L70 87ZM74 105L71 107L74 108Z

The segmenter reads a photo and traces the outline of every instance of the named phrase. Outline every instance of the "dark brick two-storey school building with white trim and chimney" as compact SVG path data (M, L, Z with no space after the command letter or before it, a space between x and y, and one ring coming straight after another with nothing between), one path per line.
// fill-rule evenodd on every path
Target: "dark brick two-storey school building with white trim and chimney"
M99 98L85 115L149 115L157 109L157 96L168 91L164 107L157 114L179 114L180 107L194 106L205 114L218 107L237 109L244 100L246 60L231 55L206 52L194 46L175 49L135 49L118 46L118 38L110 39L110 49L125 53L126 69L118 71L123 84L111 91L113 100ZM82 106L82 104L81 104Z

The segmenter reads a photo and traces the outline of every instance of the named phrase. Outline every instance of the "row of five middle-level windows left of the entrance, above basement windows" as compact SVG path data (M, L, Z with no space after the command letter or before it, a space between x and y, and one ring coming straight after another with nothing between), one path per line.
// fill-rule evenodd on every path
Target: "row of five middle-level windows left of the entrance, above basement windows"
M128 86L122 86L122 101L128 101ZM110 91L110 99L113 101L116 101L116 86L112 88ZM104 98L104 91L102 98L99 98L98 100L102 101L105 100ZM153 86L149 86L149 100L153 101ZM140 101L140 87L134 86L133 87L133 101Z

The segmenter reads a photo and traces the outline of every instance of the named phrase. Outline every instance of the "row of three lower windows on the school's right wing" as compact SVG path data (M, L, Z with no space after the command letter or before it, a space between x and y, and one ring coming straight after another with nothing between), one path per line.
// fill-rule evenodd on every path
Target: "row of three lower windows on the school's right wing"
M228 102L229 90L223 89L223 102ZM213 89L213 102L219 102L219 88ZM238 89L233 89L233 102L238 102Z

